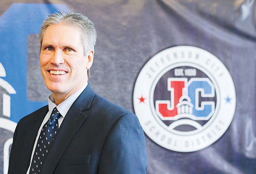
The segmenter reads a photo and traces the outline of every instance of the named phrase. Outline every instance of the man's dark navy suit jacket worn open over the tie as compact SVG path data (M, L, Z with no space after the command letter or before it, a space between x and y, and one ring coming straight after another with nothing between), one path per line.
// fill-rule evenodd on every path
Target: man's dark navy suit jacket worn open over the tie
M8 174L26 174L48 106L22 118L13 135ZM42 174L145 174L145 138L138 118L89 86L66 114Z

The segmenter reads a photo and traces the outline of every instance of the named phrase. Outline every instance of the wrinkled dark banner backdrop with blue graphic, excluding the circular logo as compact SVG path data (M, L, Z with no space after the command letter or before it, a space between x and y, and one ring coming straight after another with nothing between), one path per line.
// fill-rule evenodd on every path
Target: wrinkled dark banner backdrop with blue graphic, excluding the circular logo
M167 150L145 135L147 174L256 173L255 0L2 0L0 63L6 77L0 77L16 91L9 92L10 118L1 113L2 118L18 122L47 104L37 33L46 15L65 8L84 13L97 29L89 83L128 110L133 111L133 88L141 68L165 48L190 45L207 50L232 76L237 103L225 134L209 147L188 153ZM3 144L11 134L6 128L0 131L4 173Z

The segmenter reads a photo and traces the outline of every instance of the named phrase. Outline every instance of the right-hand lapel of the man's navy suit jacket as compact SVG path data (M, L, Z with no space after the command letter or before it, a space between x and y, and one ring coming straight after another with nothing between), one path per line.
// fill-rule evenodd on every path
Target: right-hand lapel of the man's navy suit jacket
M50 153L47 156L45 165L41 169L42 173L53 173L66 147L86 119L86 115L82 112L89 109L94 95L94 91L88 84L86 89L84 89L81 95L79 95L70 107L54 141L52 142L49 150Z

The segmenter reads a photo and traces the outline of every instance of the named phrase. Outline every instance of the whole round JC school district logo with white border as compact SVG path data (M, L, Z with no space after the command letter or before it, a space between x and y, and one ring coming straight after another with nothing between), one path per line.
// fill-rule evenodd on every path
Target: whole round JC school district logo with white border
M190 152L208 147L235 112L232 77L211 53L192 46L167 48L141 69L133 105L144 132L160 146Z

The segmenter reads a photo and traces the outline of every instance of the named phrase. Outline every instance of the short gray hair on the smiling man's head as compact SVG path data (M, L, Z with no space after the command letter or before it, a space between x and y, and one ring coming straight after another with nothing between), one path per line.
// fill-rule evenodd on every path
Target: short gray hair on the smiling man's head
M66 24L79 27L81 29L81 41L84 48L84 55L87 55L90 50L94 50L97 33L94 23L92 23L92 21L86 16L81 13L73 13L71 11L57 11L47 17L48 18L42 23L39 32L38 42L40 44L40 51L42 49L42 41L45 30L48 26L54 24ZM87 74L89 76L89 69Z

